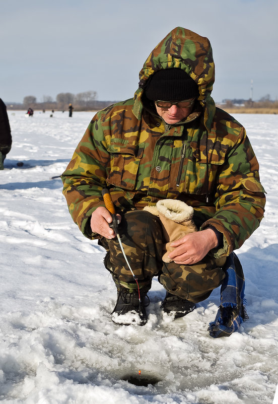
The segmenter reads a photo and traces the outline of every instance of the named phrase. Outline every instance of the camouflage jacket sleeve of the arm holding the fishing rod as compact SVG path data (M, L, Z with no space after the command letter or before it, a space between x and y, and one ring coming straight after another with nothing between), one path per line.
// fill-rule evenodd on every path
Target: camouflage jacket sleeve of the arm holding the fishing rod
M106 187L110 166L110 154L99 121L95 115L61 175L69 213L90 239L98 237L91 231L90 218L98 206L104 206L101 191Z

